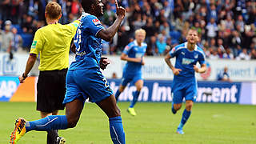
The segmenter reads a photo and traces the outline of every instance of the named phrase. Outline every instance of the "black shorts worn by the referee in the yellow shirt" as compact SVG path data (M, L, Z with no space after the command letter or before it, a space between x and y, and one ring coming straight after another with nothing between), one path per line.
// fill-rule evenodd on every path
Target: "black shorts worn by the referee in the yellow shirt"
M40 71L37 85L37 110L52 113L64 110L62 104L66 94L66 72L63 70Z

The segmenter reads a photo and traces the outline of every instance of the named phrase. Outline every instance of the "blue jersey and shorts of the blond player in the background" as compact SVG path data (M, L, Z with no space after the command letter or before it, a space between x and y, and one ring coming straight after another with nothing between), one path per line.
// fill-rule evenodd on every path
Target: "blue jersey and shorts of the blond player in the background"
M146 43L142 42L141 46L138 46L136 40L130 42L122 53L128 55L129 58L142 58L146 52ZM138 74L142 72L141 62L126 62L126 66L123 68L126 74Z

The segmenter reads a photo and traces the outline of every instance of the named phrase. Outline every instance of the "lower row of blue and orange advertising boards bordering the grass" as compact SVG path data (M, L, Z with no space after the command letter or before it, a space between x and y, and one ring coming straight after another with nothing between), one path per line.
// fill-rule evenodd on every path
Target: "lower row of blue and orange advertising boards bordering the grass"
M28 77L19 84L18 77L0 77L0 101L35 102L38 77ZM108 79L114 92L118 90L120 79ZM145 80L139 102L172 102L172 81ZM128 85L119 101L131 101L135 86ZM198 82L197 102L221 102L256 105L256 82Z

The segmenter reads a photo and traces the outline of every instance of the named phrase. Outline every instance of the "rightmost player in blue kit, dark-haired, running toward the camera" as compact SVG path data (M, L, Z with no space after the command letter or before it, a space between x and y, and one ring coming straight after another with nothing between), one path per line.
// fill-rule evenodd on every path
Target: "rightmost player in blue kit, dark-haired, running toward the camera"
M173 114L182 107L182 100L186 100L186 108L182 114L177 133L184 134L183 126L188 118L190 118L191 109L197 98L198 84L196 82L194 72L204 73L206 71L205 54L200 47L197 46L198 32L190 29L186 35L187 42L175 46L169 54L166 54L166 63L174 73L174 81L172 83L173 102L171 110ZM176 58L175 66L170 62L170 58ZM201 68L196 66L197 62Z

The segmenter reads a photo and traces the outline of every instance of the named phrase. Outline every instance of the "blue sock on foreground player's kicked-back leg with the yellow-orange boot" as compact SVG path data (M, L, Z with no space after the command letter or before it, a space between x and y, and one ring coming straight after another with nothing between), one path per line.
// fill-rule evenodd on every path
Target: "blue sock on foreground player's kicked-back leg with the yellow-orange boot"
M37 121L26 122L26 132L30 130L50 131L67 128L66 115L50 115Z

